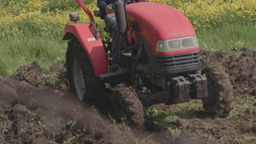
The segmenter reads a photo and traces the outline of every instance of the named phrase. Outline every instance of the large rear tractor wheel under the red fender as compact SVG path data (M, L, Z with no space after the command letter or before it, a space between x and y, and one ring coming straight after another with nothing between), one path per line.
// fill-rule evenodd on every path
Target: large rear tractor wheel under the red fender
M102 106L106 101L105 83L95 76L90 59L77 39L68 42L66 69L70 91L76 93L79 100Z

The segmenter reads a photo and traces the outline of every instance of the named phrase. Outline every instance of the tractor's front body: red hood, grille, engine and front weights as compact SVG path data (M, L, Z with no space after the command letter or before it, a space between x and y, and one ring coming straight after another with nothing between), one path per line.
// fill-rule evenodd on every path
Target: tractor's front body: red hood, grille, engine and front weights
M137 46L132 51L132 86L156 93L154 103L206 97L206 79L196 75L201 69L199 45L187 17L162 3L134 3L125 8L127 41ZM201 88L190 92L196 85Z

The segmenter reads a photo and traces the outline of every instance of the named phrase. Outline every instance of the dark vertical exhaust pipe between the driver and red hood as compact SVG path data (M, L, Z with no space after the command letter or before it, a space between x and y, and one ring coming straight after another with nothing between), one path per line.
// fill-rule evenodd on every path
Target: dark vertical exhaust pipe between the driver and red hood
M117 20L118 33L121 35L121 44L124 51L129 51L127 46L127 19L125 5L122 0L114 2L115 19Z

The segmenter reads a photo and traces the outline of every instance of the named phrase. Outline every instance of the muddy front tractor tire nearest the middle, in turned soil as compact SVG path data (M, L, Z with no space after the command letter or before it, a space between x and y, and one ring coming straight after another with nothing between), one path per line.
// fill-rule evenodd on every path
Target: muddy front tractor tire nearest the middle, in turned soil
M144 124L144 111L137 94L129 87L121 87L115 91L116 98L120 103L120 109L124 112L127 121L141 128Z

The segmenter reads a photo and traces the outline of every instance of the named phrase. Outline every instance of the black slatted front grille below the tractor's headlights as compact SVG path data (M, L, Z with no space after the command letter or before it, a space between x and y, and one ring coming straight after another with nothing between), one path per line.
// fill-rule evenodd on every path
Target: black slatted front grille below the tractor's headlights
M171 74L200 69L199 51L155 57L159 66Z

